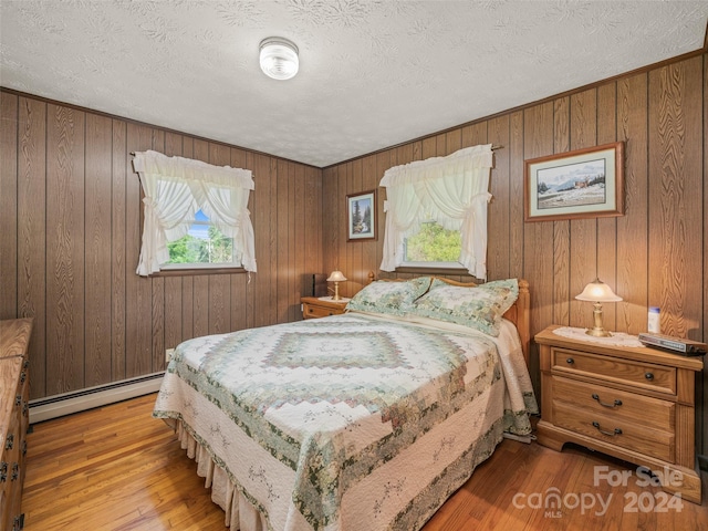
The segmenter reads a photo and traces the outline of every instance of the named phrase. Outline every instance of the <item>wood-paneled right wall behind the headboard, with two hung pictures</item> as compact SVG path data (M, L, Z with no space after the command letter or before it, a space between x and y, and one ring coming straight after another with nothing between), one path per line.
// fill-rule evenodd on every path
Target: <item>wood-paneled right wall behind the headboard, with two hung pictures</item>
M616 140L626 143L625 216L524 222L524 159ZM600 277L624 299L604 304L608 329L645 331L647 306L657 305L664 333L708 341L708 55L325 168L324 197L337 200L324 201L324 219L339 223L324 227L324 264L352 279L345 295L369 270L381 274L384 171L477 144L503 146L491 174L489 279L529 280L532 333L591 325L592 309L574 296ZM344 196L369 189L378 189L379 238L346 242ZM708 369L697 387L698 451L708 455Z

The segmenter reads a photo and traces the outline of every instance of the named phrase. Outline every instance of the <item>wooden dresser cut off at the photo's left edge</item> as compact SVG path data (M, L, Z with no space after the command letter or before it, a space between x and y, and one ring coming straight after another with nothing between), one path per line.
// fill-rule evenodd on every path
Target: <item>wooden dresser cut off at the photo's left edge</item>
M0 321L0 531L24 525L21 512L29 427L27 357L31 319Z

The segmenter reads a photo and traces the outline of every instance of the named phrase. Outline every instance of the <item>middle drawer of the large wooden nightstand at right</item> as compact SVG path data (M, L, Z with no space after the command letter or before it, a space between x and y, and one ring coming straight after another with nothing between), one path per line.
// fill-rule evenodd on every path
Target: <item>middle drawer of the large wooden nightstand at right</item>
M552 376L553 402L575 407L577 412L604 415L620 421L637 423L646 428L674 430L676 404L612 387Z

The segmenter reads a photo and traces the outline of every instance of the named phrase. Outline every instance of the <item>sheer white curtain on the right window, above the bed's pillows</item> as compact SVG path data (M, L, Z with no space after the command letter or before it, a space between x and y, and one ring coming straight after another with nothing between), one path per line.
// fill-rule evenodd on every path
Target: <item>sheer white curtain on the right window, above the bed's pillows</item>
M384 174L386 227L383 271L404 261L404 241L420 223L434 219L446 229L459 230L459 261L473 277L487 279L487 204L493 164L491 144L459 149L394 166Z

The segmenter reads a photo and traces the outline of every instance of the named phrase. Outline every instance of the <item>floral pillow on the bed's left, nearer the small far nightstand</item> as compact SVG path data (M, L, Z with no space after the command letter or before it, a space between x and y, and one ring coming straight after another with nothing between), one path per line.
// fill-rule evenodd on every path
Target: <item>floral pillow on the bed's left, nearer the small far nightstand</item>
M377 280L356 293L346 309L404 315L410 311L413 302L428 290L430 280L430 277L396 282Z

